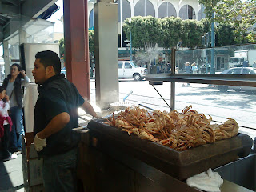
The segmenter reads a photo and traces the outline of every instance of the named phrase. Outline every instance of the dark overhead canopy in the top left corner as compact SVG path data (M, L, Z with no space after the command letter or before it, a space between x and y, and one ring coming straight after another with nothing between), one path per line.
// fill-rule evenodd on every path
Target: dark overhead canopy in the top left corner
M47 19L58 10L57 0L0 0L0 44L35 18Z

